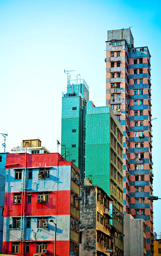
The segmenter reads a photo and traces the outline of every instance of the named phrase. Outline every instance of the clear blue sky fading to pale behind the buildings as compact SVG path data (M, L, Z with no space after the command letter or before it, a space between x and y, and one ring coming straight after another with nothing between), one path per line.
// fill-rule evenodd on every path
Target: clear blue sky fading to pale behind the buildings
M0 133L6 150L23 139L40 138L56 152L61 141L61 97L66 70L81 74L89 100L105 105L107 30L129 28L134 46L151 53L153 120L153 195L161 197L160 42L161 2L0 0ZM158 115L159 114L159 115ZM0 136L0 152L3 152ZM161 232L161 201L154 202L154 231Z

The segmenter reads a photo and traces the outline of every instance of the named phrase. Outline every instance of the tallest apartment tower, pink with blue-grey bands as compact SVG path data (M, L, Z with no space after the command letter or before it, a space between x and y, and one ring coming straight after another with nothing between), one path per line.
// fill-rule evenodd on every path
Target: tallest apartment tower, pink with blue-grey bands
M151 55L134 48L130 28L108 31L106 51L106 105L123 127L124 213L146 220L153 255Z

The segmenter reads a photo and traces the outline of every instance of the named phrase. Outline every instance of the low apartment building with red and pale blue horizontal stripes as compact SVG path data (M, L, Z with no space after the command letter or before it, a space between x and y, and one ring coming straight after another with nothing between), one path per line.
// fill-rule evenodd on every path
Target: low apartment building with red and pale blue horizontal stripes
M31 147L7 154L4 163L3 253L79 256L80 170L59 153L28 154Z

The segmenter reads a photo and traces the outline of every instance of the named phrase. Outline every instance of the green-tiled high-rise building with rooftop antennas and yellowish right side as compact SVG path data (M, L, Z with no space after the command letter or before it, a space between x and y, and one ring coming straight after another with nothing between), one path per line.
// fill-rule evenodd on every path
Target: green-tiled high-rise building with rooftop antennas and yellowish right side
M84 87L87 95L81 91ZM80 84L68 81L67 92L63 93L61 154L82 170L82 178L86 176L90 179L92 176L92 184L98 185L112 198L115 219L112 225L115 233L112 250L122 256L122 127L110 107L95 107L93 102L88 100L87 88L84 80L80 81Z

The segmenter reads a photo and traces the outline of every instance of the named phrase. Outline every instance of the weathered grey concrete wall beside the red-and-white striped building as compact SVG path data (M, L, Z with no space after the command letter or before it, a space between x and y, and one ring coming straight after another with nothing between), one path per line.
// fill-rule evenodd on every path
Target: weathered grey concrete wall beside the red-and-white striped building
M82 186L80 195L83 197L80 202L80 231L83 232L82 243L79 245L80 256L93 256L96 248L96 186Z

